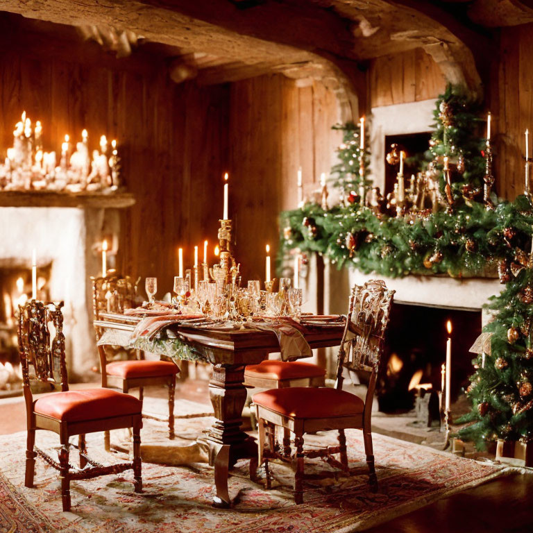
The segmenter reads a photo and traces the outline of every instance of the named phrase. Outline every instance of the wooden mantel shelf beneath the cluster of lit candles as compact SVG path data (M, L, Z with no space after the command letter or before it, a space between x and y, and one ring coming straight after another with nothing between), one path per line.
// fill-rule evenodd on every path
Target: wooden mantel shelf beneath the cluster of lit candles
M3 191L3 208L129 208L135 196L129 192Z

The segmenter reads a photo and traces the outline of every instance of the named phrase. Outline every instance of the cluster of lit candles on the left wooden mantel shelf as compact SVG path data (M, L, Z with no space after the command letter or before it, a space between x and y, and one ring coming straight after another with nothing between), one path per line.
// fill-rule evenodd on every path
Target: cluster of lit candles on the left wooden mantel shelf
M0 190L112 192L121 185L117 141L111 146L101 135L99 149L90 153L87 130L74 145L69 135L61 145L60 158L55 151L45 152L42 145L42 124L22 113L13 131L13 146L0 163Z

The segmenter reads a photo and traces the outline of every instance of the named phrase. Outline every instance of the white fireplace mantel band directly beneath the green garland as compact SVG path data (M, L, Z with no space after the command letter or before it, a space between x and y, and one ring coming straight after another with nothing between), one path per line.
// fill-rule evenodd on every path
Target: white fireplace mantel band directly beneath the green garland
M364 283L366 280L379 278L384 280L389 289L394 289L394 301L410 305L426 305L479 311L493 295L500 294L502 285L498 278L463 278L461 280L448 276L405 276L405 278L387 278L380 274L364 274L350 270L350 285Z

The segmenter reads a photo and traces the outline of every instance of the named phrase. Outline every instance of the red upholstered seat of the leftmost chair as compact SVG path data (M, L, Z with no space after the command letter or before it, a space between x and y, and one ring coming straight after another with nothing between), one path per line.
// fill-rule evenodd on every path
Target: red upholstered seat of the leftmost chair
M64 422L80 422L141 414L142 403L134 396L112 389L53 392L39 398L34 411Z

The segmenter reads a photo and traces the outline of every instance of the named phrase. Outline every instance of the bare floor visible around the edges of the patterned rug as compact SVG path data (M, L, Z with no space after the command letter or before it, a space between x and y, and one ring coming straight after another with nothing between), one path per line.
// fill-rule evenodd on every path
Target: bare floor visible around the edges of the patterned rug
M78 387L97 386L84 384ZM78 388L76 387L76 388ZM74 387L73 387L74 388ZM146 394L160 396L157 392ZM165 391L161 391L166 396ZM209 403L207 382L178 384L176 394ZM26 430L22 398L0 400L0 434ZM509 475L438 500L422 509L395 518L369 533L533 533L533 474Z

